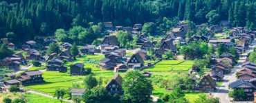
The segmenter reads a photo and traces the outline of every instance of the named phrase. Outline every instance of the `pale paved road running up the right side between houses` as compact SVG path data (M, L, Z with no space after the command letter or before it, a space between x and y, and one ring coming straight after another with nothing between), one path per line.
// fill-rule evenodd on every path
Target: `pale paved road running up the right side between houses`
M228 84L230 84L231 82L235 82L237 80L237 78L235 77L235 72L238 69L241 69L241 63L246 61L246 56L248 55L248 53L253 52L253 47L255 46L256 46L256 39L253 41L253 43L251 43L251 46L249 46L248 50L246 50L246 52L241 55L241 57L239 58L239 62L234 66L234 68L232 68L231 73L225 75L225 77L223 78L224 80L223 84L217 87L217 90L215 91L215 93L213 93L214 97L219 98L221 103L230 102L228 98L228 92L229 92Z

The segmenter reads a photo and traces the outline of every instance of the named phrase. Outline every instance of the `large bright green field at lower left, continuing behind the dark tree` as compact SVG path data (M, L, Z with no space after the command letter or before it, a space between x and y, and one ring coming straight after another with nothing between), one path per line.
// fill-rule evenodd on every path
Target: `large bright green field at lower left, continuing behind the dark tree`
M55 89L68 89L72 87L72 83L80 83L80 86L83 87L82 80L86 76L71 76L69 73L57 73L57 72L42 72L43 78L46 81L44 84L31 85L26 87L27 89L33 89L35 91L40 91L43 93L49 93L54 95ZM113 71L93 71L96 78L102 78L102 86L107 84L109 80L115 75ZM120 73L121 76L124 76L125 73Z

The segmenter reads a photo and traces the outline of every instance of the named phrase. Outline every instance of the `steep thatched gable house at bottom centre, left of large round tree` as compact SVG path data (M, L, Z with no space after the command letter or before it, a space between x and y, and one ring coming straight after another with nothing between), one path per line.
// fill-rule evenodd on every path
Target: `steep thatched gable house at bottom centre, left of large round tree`
M119 73L116 73L113 78L106 84L105 86L106 90L111 93L111 95L114 95L117 93L118 95L123 95L124 91L122 91L122 77L119 75Z

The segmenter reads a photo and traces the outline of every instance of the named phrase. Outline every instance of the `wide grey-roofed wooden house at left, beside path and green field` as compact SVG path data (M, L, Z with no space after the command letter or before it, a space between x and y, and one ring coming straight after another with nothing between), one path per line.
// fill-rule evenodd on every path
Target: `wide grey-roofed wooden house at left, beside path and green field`
M17 77L17 80L21 81L22 85L40 83L44 82L42 74L43 73L39 70L25 71L24 73L21 73L19 77Z

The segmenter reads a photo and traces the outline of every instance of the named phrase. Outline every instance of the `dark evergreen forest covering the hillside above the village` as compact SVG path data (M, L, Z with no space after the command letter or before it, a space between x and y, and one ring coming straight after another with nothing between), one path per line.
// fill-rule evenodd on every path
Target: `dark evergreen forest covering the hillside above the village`
M123 26L153 22L161 28L166 19L210 25L228 20L233 27L255 30L255 5L255 0L0 0L0 38L21 43L57 29L90 30L91 23L104 21Z

